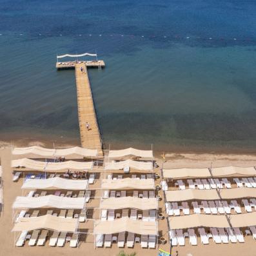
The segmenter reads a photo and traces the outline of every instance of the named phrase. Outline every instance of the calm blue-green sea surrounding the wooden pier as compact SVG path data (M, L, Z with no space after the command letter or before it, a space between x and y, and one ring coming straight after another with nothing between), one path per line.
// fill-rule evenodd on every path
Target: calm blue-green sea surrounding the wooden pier
M256 1L0 3L0 141L79 145L74 70L55 63L89 52L104 148L255 153Z

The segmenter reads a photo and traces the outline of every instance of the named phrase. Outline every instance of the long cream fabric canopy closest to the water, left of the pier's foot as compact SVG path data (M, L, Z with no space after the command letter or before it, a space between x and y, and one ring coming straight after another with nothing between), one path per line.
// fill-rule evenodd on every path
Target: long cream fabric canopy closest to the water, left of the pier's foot
M54 149L54 148L43 148L41 146L30 146L27 148L14 148L12 150L13 155L35 155L42 157L56 157L56 156L76 156L76 157L97 157L97 150L90 150L87 148L81 148L75 146L73 148L63 148L63 149Z

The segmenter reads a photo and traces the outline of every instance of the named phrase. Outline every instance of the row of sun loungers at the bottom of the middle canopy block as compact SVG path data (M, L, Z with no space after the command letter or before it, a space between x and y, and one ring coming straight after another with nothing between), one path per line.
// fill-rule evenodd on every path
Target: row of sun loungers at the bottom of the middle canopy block
M155 248L156 244L156 235L141 235L141 237L135 237L134 233L128 232L128 236L126 239L126 246L128 248L133 248L135 242L139 242L141 244L141 248ZM119 248L123 248L125 245L125 232L118 233L118 235L97 235L96 236L96 246L97 247L106 247L110 248L112 246L112 242L117 242L117 246Z

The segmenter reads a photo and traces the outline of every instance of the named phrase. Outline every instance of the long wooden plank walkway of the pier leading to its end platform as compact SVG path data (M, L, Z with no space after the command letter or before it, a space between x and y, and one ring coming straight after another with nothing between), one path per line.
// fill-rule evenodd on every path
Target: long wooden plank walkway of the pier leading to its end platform
M81 72L83 68L83 72ZM77 85L77 109L79 118L79 128L81 145L83 148L97 148L99 155L103 155L101 133L97 123L97 116L94 108L94 99L84 63L75 63L75 80ZM90 130L86 128L86 122L90 124Z

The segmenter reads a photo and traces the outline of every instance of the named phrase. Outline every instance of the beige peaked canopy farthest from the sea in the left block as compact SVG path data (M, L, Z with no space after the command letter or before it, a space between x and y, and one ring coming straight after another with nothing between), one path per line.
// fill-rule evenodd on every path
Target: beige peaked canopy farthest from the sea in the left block
M53 215L43 215L33 218L20 218L15 223L12 231L30 230L56 230L61 232L75 232L77 230L78 219L66 219Z

